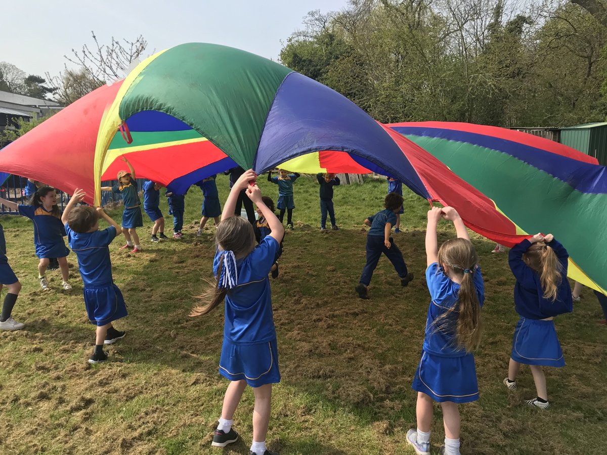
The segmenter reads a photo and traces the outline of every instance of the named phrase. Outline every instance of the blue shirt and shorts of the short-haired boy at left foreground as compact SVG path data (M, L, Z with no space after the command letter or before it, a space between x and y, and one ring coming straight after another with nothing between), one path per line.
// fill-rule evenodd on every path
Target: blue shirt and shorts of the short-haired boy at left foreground
M67 241L78 257L78 269L84 283L84 306L90 322L103 326L127 315L124 297L112 279L109 244L116 228L75 232L65 225Z

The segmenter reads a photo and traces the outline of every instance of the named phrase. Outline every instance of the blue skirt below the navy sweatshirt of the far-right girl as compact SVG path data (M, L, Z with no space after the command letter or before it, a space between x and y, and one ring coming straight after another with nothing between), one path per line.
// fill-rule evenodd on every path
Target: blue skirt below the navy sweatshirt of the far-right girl
M554 321L521 317L514 329L510 357L525 365L565 366Z

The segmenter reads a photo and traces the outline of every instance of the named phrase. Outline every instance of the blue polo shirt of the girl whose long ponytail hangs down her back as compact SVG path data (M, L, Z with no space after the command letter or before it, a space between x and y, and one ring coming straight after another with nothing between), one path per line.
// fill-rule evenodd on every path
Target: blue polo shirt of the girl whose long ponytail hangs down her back
M483 306L485 301L485 285L481 268L476 268L472 274L474 288L478 303ZM432 263L426 269L426 283L430 291L430 306L426 318L426 337L424 338L424 351L439 357L464 357L466 349L457 347L457 295L459 284L444 274L438 262ZM444 314L456 307L448 317ZM436 320L439 319L438 324Z

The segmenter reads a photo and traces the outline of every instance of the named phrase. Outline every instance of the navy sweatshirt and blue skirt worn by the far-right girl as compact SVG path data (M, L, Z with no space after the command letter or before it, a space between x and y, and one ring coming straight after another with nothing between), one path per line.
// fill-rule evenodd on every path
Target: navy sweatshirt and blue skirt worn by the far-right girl
M548 243L557 254L562 268L562 280L557 298L552 302L543 297L540 276L523 261L523 254L531 246L523 240L510 249L508 263L517 279L514 285L515 310L520 315L512 340L513 360L526 365L565 366L565 358L558 342L554 320L543 320L573 311L571 286L567 280L569 254L556 240Z

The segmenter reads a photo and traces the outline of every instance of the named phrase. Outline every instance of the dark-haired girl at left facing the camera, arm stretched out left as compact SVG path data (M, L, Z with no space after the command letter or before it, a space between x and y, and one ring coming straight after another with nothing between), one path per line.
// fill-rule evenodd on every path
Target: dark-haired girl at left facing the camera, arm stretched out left
M36 256L40 262L38 264L38 279L40 286L44 291L49 291L49 281L46 279L46 269L49 266L50 258L57 258L61 277L63 278L64 291L70 291L72 286L69 283L70 271L67 266L66 256L70 253L63 241L66 231L61 224L61 211L57 206L57 194L55 188L50 186L39 187L32 196L31 205L16 204L12 201L1 199L0 201L7 207L19 212L19 215L30 218L34 223L34 245L36 247Z

